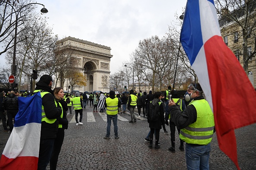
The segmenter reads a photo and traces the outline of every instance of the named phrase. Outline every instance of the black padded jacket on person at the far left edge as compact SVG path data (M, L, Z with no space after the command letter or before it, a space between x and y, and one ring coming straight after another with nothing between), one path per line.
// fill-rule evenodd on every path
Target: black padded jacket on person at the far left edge
M2 102L2 109L4 110L19 110L18 97L15 94L9 94Z

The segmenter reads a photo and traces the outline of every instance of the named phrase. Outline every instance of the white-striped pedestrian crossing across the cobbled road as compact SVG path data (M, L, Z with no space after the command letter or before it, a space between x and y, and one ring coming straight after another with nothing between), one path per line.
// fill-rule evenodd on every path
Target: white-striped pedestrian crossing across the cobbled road
M83 113L84 114L84 113ZM87 112L87 122L96 122L95 116L100 115L100 117L103 119L103 121L107 121L107 115L104 112ZM129 116L129 117L128 117ZM80 115L78 114L78 121L79 121ZM128 119L127 119L128 118ZM137 118L137 116L136 116ZM117 119L119 121L130 121L130 115L120 115L118 114ZM139 117L137 120L147 120L147 118ZM84 121L84 116L83 116L83 121ZM75 121L75 115L72 117L70 123L76 123Z

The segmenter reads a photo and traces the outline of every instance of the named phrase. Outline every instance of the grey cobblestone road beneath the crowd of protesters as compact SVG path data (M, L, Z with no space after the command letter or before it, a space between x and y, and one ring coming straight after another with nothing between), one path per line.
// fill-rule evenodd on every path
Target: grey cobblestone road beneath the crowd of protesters
M83 111L84 125L76 126L75 116L68 115L69 128L59 155L58 170L186 170L185 153L178 150L176 134L176 153L168 151L170 135L160 131L159 150L149 149L144 141L149 127L143 117L137 123L129 123L129 113L119 115L119 139L114 139L113 125L110 140L105 140L106 114L93 113L93 107ZM170 132L169 127L166 129ZM237 153L241 170L256 170L256 124L237 129ZM0 153L3 152L9 134L0 125ZM214 134L210 153L210 170L235 170L232 161L219 150ZM49 166L47 170L50 170Z

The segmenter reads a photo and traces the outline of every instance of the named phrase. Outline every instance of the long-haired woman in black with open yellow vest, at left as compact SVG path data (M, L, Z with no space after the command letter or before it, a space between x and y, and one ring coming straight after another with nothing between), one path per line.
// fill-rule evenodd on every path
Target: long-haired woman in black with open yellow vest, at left
M57 162L59 158L59 152L62 147L62 143L64 140L64 129L68 129L69 121L66 117L66 111L69 109L67 103L63 100L64 91L63 88L57 87L53 89L54 97L56 99L56 107L60 106L62 108L62 113L57 120L59 121L59 128L57 132L57 137L54 140L53 144L53 153L50 158L50 170L56 170Z

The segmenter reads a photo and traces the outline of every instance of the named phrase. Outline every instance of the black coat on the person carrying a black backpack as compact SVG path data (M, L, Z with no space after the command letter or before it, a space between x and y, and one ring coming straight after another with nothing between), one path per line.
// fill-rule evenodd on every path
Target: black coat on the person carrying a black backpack
M159 102L160 100L159 99L154 99L152 100L153 104L157 102ZM148 110L147 112L150 112L150 110ZM162 129L162 124L165 124L165 118L164 118L164 108L163 108L163 103L161 103L159 105L159 112L160 112L160 118L157 120L157 121L149 121L148 120L148 123L149 123L149 127L150 128L154 128L154 129Z

